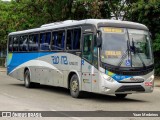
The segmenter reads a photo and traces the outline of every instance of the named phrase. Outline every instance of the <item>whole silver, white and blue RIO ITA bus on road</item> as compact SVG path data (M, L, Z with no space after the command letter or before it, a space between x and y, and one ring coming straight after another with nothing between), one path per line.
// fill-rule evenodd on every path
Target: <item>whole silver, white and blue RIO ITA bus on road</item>
M9 34L7 74L36 84L115 94L154 87L151 38L145 25L118 20L67 20Z

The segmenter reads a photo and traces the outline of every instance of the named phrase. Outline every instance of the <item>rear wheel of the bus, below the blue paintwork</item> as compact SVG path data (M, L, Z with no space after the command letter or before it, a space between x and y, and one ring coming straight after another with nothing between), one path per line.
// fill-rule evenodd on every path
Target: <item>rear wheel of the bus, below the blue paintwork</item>
M29 70L26 70L24 74L24 85L26 88L31 88L34 86L33 82L30 82L30 72Z

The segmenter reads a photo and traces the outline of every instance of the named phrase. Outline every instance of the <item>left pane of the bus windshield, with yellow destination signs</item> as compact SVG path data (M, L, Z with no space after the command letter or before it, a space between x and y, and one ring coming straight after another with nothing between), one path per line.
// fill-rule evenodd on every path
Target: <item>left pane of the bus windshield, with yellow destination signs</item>
M125 62L129 60L127 51L127 31L123 28L104 27L102 30L101 61L110 65L126 67ZM127 65L130 66L130 65Z

